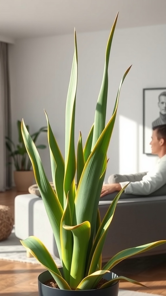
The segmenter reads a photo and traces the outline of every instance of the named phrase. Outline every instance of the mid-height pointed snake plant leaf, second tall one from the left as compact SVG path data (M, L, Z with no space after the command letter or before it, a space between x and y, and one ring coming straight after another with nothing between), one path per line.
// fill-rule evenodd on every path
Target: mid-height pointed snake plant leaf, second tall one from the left
M47 119L47 126L48 126L48 144L50 148L50 160L51 160L51 172L52 172L53 184L56 190L58 200L62 208L64 208L64 172L65 172L64 159L63 159L63 156L61 155L61 151L58 147L56 139L53 135L53 132L48 120L48 115L46 112L45 112L45 116Z

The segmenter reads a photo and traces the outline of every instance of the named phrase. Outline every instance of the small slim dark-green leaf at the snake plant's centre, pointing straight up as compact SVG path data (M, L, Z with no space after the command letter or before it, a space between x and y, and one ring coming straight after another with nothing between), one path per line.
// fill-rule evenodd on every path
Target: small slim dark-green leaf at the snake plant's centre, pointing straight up
M82 175L84 165L85 165L85 160L84 160L84 152L83 152L83 147L82 147L82 135L80 132L78 145L77 145L77 186L79 184L79 180Z

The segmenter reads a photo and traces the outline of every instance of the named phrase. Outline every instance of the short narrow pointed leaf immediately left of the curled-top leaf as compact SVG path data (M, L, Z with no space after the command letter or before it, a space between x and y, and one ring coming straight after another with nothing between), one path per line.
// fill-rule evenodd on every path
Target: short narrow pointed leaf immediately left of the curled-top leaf
M72 225L69 198L67 198L64 213L61 219L61 227L60 227L63 274L64 274L64 279L69 284L71 260L73 255L73 235L71 231L67 231L66 229L64 229L63 226L65 224L70 226Z

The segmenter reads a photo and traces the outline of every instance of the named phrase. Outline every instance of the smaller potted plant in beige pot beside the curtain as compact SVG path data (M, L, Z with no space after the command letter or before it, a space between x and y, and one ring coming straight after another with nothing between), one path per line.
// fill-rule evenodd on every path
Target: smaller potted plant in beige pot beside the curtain
M29 131L29 126L26 126ZM17 131L18 131L18 142L15 145L12 139L6 137L6 147L10 152L10 157L13 159L15 171L14 171L14 183L16 185L17 191L27 191L28 187L33 184L34 173L32 170L32 164L27 154L25 144L21 133L21 121L17 120ZM47 127L44 126L39 129L39 131L31 135L33 142L36 143L38 136L42 132L46 132ZM45 149L46 145L39 144L36 146L38 149ZM9 163L11 164L11 163Z

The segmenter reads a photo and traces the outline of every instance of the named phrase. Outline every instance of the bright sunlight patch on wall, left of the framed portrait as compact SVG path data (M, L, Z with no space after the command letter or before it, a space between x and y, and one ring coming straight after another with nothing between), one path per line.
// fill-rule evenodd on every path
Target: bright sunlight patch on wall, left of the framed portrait
M138 124L119 115L119 173L138 172Z

